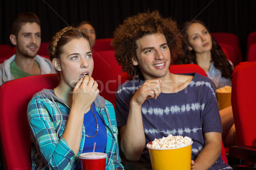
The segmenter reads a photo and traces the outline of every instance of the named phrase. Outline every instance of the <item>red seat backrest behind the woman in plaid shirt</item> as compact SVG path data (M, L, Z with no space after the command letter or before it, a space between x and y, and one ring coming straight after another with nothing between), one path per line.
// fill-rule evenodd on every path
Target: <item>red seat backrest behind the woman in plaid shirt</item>
M6 170L31 170L27 106L33 94L57 85L57 74L42 74L14 79L0 86L0 143Z

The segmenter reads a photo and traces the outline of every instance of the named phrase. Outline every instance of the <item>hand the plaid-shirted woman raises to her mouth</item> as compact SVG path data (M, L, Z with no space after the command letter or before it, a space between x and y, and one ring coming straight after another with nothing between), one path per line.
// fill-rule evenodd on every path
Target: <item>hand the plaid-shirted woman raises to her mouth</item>
M87 113L98 94L98 83L93 77L85 76L76 83L73 89L72 107L76 107L81 113Z

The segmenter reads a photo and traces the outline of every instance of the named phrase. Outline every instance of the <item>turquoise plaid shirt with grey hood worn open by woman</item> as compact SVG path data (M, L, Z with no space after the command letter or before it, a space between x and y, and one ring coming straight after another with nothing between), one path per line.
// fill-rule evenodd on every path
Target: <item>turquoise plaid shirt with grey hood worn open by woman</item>
M105 153L107 153L108 158L106 159L106 170L123 170L119 157L118 130L113 105L99 95L94 103L107 132ZM50 90L44 89L32 97L27 113L31 130L32 170L72 170L76 167L79 154L84 147L85 130L83 126L80 150L78 155L75 155L62 138L70 107L54 96Z

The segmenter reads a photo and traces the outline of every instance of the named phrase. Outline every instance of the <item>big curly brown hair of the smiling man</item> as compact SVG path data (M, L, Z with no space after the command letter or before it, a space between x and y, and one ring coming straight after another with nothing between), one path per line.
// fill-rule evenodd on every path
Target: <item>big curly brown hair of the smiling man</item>
M117 62L129 75L141 74L140 68L132 64L132 58L137 59L136 41L156 33L165 35L173 62L183 51L182 36L177 23L171 18L161 17L158 11L140 13L124 20L124 23L116 28L111 45L115 49Z

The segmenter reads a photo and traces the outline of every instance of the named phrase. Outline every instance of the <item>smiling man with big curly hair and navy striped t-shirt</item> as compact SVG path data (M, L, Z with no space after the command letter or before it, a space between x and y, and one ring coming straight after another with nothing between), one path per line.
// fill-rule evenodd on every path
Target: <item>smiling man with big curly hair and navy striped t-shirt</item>
M145 144L172 134L193 140L191 169L232 169L221 159L221 119L211 80L172 74L182 54L177 24L158 11L129 17L114 32L115 57L137 78L116 91L116 118L126 159L150 161Z

